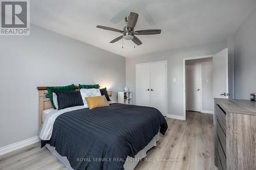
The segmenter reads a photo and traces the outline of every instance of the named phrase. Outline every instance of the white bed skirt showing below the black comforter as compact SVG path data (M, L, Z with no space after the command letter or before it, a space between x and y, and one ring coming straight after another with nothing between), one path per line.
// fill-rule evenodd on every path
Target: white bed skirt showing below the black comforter
M146 152L150 150L151 148L155 147L157 145L157 142L159 141L159 133L154 136L154 138L146 145L144 149L142 149L140 152L138 152L137 155L135 155L135 158L132 158L130 156L127 156L127 159L123 165L124 170L133 170L136 165L139 163L139 161L146 157ZM70 166L70 163L66 156L61 156L57 153L55 150L55 147L51 147L50 144L46 144L46 148L61 162L63 163L69 170L73 170L73 168Z

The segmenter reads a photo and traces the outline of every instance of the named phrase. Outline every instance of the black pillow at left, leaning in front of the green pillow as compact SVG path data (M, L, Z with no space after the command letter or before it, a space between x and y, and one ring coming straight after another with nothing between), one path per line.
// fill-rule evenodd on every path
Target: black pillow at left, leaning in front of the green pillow
M58 110L73 106L82 106L80 91L54 91L57 95Z

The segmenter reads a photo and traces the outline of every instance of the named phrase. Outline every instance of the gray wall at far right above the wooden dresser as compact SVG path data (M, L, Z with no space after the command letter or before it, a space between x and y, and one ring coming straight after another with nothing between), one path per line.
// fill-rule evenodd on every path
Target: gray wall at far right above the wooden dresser
M234 88L236 99L256 92L256 9L234 35Z

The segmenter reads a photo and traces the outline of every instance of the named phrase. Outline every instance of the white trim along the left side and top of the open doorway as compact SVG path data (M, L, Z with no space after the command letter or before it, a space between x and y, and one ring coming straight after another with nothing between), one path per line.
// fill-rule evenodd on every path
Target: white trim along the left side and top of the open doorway
M186 60L210 58L210 57L213 57L213 56L214 55L208 55L208 56L191 57L191 58L184 58L183 59L183 117L184 117L183 119L184 120L186 120ZM202 94L202 91L201 91L201 94Z

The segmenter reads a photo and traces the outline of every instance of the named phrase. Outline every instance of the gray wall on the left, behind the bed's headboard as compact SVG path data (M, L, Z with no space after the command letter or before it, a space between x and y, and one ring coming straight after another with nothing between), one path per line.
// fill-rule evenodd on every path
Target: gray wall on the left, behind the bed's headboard
M31 26L30 36L0 38L0 148L37 136L37 86L125 86L125 58Z

